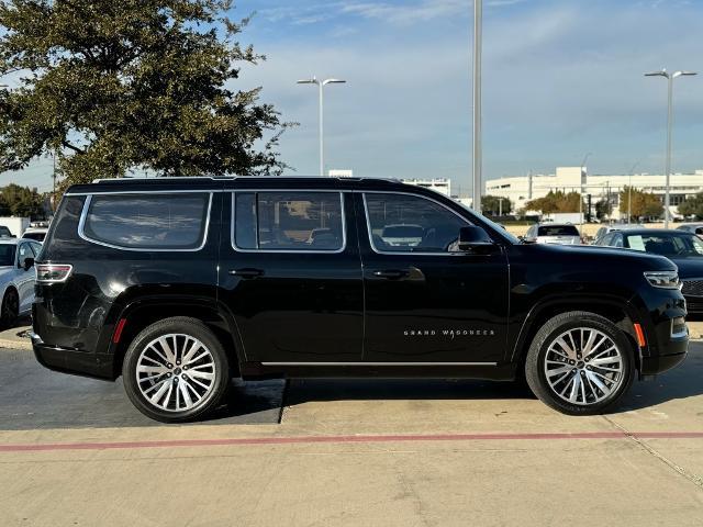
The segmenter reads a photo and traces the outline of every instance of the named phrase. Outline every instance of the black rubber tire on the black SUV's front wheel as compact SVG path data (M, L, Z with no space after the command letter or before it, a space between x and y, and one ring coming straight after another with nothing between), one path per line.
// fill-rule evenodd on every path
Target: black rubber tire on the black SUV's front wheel
M611 343L615 347L615 350L611 351L610 355L606 355L605 357L620 357L621 371L618 373L609 373L602 367L593 366L594 362L590 362L591 360L601 360L596 359L596 357L601 356L602 349L607 349L611 347L611 343L607 341L604 343L603 348L593 348L596 351L593 351L591 355L589 355L589 357L581 355L583 348L587 347L583 346L583 340L581 340L580 344L576 343L576 346L573 346L574 355L578 354L578 360L577 357L573 358L576 365L571 366L571 355L568 352L566 352L565 355L569 356L569 359L566 359L563 365L555 363L555 360L553 360L555 357L557 357L558 360L562 360L560 358L561 356L558 356L556 354L562 351L563 348L559 346L556 348L557 351L555 351L555 347L551 347L551 345L556 343L557 339L565 333L579 328L594 330L593 334L596 335L596 337L602 334L611 340ZM600 333L596 334L595 332ZM550 347L551 351L549 351L549 357L550 363L553 365L551 368L554 368L553 370L550 370L553 373L550 378L555 379L554 388L550 382L547 381L546 372L547 352ZM559 380L561 373L557 372L557 369L566 369L567 371L565 374L568 375L566 380L561 381L561 383L559 384L557 384L556 381ZM604 381L601 373L612 375L612 384L607 381ZM601 390L594 383L595 381L591 382L591 379L593 379L595 374L600 375L595 378L598 382L606 386L610 393ZM601 315L583 311L562 313L547 321L547 323L542 326L535 335L525 361L525 377L527 379L529 388L542 402L563 414L602 414L609 408L615 406L621 401L623 395L627 393L629 386L633 383L633 379L635 378L635 359L633 346L629 343L628 338L617 326L615 326L615 324ZM574 379L574 377L580 377L580 379ZM583 386L581 386L581 383L583 384ZM559 395L558 391L560 391L562 386L566 386L568 395ZM587 389L587 386L589 388ZM589 390L591 390L590 397ZM577 402L568 401L566 399L567 396L573 397L573 391L577 392ZM599 397L602 399L599 400ZM581 402L578 402L579 399L581 399Z

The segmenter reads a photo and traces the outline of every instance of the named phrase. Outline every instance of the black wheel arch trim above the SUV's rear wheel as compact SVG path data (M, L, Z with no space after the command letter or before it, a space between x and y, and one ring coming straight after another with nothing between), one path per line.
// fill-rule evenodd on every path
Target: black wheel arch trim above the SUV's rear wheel
M233 359L230 361L232 377L239 375L245 355L234 317L224 305L211 298L178 295L136 299L116 309L110 316L112 323L105 325L103 338L109 339L113 379L120 377L124 355L134 337L150 324L175 316L187 316L205 324L215 334L227 356ZM125 322L120 332L119 341L115 343L115 332L123 319Z

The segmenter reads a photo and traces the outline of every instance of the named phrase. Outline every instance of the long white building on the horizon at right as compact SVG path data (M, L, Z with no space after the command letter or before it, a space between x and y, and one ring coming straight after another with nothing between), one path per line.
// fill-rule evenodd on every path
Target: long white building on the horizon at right
M585 197L591 194L592 214L595 214L595 203L610 200L613 206L611 218L620 220L620 192L631 184L634 189L659 195L663 203L666 178L662 175L590 176L585 167L583 169L580 167L557 167L556 173L551 175L540 173L492 179L486 182L486 193L509 198L513 202L514 210L520 210L524 209L525 203L529 200L543 198L549 191L581 191L584 201ZM672 173L670 214L677 215L677 206L688 197L698 192L703 192L703 170L696 170L694 173Z

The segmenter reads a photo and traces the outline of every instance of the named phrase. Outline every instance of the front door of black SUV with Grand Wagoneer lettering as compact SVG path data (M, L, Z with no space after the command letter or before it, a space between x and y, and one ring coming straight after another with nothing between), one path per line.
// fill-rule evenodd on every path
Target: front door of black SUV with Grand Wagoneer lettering
M367 362L483 365L504 357L507 260L456 251L469 222L425 197L357 194Z

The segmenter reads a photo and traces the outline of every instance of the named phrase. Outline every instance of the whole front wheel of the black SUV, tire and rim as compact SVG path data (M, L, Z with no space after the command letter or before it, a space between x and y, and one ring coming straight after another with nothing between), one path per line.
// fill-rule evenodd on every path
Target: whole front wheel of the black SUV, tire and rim
M601 414L617 404L633 382L633 347L601 315L563 313L535 335L525 377L535 395L561 413Z

